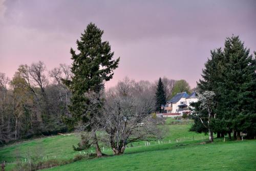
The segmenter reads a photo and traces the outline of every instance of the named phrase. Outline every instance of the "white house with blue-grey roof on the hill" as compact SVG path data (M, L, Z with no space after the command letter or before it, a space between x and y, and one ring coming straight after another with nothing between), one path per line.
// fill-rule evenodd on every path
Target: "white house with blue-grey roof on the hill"
M177 114L190 114L189 106L191 102L197 102L196 93L188 95L186 92L176 94L172 99L168 100L163 106L166 113Z

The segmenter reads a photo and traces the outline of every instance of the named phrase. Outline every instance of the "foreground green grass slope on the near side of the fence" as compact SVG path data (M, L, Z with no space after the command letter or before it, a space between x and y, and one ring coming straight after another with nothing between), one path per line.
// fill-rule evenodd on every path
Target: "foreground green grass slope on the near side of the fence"
M155 146L166 146L155 145ZM256 141L189 145L83 160L45 170L255 170Z

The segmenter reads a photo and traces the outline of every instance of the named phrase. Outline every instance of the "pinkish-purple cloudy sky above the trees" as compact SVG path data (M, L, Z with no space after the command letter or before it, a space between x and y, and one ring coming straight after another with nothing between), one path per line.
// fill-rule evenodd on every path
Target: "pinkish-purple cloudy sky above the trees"
M256 1L0 0L0 72L12 78L21 64L47 69L72 63L70 48L92 22L104 30L119 68L106 88L125 76L155 81L201 78L210 50L239 35L256 51Z

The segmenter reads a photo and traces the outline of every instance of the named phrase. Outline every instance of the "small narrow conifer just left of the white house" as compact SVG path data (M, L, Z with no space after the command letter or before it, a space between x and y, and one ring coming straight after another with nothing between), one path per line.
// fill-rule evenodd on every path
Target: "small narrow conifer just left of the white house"
M164 85L161 77L158 80L155 98L156 98L156 111L161 111L161 105L166 103Z

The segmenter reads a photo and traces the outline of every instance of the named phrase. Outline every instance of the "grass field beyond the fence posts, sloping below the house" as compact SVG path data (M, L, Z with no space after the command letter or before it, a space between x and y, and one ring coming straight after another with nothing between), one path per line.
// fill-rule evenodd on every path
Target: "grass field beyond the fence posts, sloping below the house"
M167 134L162 140L163 143L168 143L169 140L171 141L171 143L176 143L177 139L178 142L193 141L193 136L195 140L202 140L202 137L203 139L207 138L207 136L205 135L188 132L191 124L169 125L168 123L170 121L174 120L168 118L166 122L167 124L163 126L167 128ZM44 158L47 158L48 156L48 159L55 158L55 156L57 159L72 159L74 155L79 154L79 152L74 152L72 148L72 145L76 145L79 142L79 139L79 135L72 134L71 136L53 136L41 139L39 138L0 147L0 163L3 160L7 162L14 162L16 160L16 156L24 159L26 158L26 152L28 151L28 149L30 149L31 151L39 151L39 153L41 153L40 155L44 156ZM151 144L156 143L158 142L151 142ZM133 146L144 146L144 142L133 143ZM127 148L125 152L129 153L130 151L134 151L134 149ZM109 151L105 151L104 153L111 154L110 149Z

